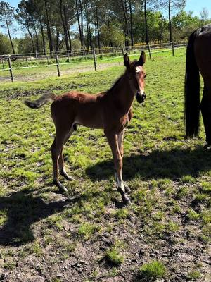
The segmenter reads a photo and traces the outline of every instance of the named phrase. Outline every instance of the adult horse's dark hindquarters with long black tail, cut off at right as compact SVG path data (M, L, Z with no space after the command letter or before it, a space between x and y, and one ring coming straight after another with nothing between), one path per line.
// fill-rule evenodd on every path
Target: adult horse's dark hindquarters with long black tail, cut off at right
M203 115L207 146L211 145L211 24L193 32L186 53L185 121L186 136L198 135L199 114ZM203 98L200 102L200 74Z

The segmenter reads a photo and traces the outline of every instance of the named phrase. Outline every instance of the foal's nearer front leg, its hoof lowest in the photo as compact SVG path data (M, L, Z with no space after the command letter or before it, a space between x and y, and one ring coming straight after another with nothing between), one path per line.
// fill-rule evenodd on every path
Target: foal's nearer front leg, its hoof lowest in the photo
M105 131L105 134L106 134L106 137L108 138L108 143L113 153L115 170L117 172L118 191L122 195L122 201L124 202L124 204L130 204L129 197L127 196L125 192L124 182L122 180L122 156L120 154L120 149L118 145L118 136L115 133L108 133L106 131Z

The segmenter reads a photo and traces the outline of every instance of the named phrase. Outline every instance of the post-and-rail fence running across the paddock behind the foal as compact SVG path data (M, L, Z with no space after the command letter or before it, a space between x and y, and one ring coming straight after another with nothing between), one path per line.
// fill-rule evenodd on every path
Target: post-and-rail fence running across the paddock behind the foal
M101 49L84 49L80 51L60 51L56 54L15 54L15 55L1 55L0 64L2 68L0 71L9 71L10 76L1 77L0 80L5 80L11 78L11 81L14 81L13 70L25 69L25 68L37 68L40 66L56 66L58 76L60 76L60 66L68 65L72 63L72 60L79 59L84 61L74 62L74 63L90 63L90 60L94 63L94 69L97 70L97 59L101 57L101 61L108 61L111 59L117 59L124 55L125 52L132 54L133 52L139 52L141 50L146 51L150 56L150 59L153 54L170 51L172 50L172 56L174 56L174 51L176 49L186 48L187 42L167 42L167 43L158 43L158 44L141 44L139 46L129 46L129 47L106 47ZM113 58L103 59L103 56L114 56ZM66 59L66 63L59 61L60 59ZM46 60L46 63L43 61ZM53 60L53 63L52 63ZM39 66L30 66L30 63L37 61L40 64ZM6 63L8 67L6 68ZM12 66L13 63L25 63L26 66Z

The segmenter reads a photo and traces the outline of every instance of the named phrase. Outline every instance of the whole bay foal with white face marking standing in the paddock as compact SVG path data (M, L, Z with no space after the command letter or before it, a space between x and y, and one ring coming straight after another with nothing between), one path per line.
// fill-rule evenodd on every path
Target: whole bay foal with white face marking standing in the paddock
M127 195L129 188L124 185L122 180L124 128L132 118L134 97L136 96L139 103L146 98L144 92L146 74L143 71L145 61L146 56L143 51L139 61L132 63L129 61L129 56L125 54L124 66L126 70L107 92L96 95L76 91L61 96L44 94L37 101L25 101L27 106L37 109L49 100L53 100L51 116L56 127L56 137L51 145L53 184L59 188L60 192L66 192L67 189L58 180L58 170L60 175L67 180L72 180L64 168L63 146L65 142L68 141L77 125L102 128L113 153L118 191L122 195L124 204L129 204Z

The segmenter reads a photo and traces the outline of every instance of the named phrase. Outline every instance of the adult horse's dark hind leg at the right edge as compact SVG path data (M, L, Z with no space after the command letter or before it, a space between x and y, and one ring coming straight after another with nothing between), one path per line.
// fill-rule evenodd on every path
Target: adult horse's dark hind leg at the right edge
M200 104L205 125L207 145L211 145L211 85L206 85L203 91L203 99Z

